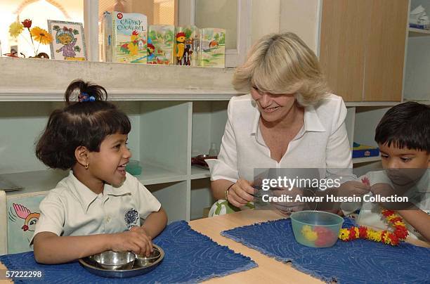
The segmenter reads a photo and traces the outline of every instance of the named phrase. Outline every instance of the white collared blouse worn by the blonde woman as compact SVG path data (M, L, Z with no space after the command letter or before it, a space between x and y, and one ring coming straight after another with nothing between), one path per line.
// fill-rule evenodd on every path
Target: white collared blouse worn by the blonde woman
M352 176L345 117L344 101L334 94L306 107L303 127L290 141L280 162L276 162L261 136L255 101L250 95L233 97L228 103L228 121L218 159L207 160L211 180L253 181L254 168L351 169Z

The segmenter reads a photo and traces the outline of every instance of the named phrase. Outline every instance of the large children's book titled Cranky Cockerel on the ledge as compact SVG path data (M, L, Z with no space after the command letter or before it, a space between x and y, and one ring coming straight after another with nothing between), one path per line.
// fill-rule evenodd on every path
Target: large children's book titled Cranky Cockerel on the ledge
M146 63L147 19L139 13L103 14L104 60L119 63Z

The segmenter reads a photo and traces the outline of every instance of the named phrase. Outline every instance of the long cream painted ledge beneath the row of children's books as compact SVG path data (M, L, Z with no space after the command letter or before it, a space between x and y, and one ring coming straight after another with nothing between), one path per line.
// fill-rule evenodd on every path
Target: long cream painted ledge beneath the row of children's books
M233 69L0 58L0 101L63 101L73 79L107 89L112 101L223 101L237 93Z

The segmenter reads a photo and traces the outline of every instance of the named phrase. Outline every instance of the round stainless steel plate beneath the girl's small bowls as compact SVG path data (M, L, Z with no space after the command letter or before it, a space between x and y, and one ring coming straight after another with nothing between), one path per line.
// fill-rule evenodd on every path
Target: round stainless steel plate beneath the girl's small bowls
M100 266L93 256L84 257L79 259L79 263L84 266L89 272L96 274L97 276L109 277L109 278L128 278L143 275L155 269L160 262L164 259L164 251L161 247L154 245L154 248L159 250L159 257L155 262L149 263L147 265L141 266L138 262L133 264L131 269L104 269Z

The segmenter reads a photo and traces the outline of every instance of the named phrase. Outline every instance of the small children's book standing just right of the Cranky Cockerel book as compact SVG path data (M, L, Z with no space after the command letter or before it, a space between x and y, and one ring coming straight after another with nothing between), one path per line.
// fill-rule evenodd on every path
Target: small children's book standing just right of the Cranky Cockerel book
M174 63L174 25L150 25L148 28L148 64Z

